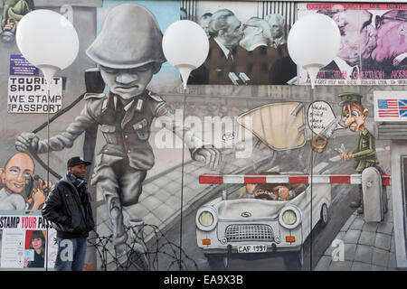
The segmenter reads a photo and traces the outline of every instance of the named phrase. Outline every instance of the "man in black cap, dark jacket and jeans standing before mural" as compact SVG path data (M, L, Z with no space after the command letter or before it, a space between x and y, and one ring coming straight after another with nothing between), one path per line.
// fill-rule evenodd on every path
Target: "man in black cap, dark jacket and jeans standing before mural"
M89 165L80 156L69 159L68 172L55 184L42 210L57 231L55 271L82 271L85 264L87 238L95 227L84 180Z

